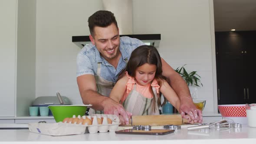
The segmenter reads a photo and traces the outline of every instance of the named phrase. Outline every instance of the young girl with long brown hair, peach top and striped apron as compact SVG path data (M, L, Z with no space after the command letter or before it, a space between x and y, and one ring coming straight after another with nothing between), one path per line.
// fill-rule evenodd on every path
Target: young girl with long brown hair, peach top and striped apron
M159 115L161 93L179 111L180 99L162 75L162 63L154 46L139 46L110 93L132 115ZM163 105L164 105L163 103Z

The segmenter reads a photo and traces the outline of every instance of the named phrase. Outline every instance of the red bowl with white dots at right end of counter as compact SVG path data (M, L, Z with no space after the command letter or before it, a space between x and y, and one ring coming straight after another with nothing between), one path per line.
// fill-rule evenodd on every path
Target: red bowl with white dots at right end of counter
M243 105L218 105L223 118L231 119L235 123L247 124L245 104Z

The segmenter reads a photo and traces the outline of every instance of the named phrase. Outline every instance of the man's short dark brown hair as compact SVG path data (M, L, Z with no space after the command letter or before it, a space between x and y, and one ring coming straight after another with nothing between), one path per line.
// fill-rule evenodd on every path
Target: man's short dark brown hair
M107 27L110 26L112 23L115 24L116 28L118 28L114 13L107 10L99 10L93 13L92 16L88 18L88 26L92 36L94 36L95 26Z

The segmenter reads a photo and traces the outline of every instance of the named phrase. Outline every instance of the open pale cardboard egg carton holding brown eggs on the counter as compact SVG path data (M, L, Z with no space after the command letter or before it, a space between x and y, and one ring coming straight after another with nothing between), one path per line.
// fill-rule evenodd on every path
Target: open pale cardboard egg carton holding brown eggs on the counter
M116 115L103 115L103 114L93 114L90 116L82 116L83 119L89 118L92 121L92 125L88 124L73 124L71 121L67 122L58 122L58 123L30 123L28 124L29 130L38 134L46 134L52 136L61 136L61 135L72 135L72 134L85 134L85 133L102 133L102 132L115 132L118 129L119 118ZM73 116L75 118L75 116ZM78 116L81 118L81 116ZM97 119L103 118L102 124L98 124ZM107 118L112 120L112 124L108 124Z

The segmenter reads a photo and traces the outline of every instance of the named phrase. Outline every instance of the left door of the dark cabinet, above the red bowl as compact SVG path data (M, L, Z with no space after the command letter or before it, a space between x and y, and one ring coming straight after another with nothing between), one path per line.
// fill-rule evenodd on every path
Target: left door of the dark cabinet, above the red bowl
M218 105L244 104L244 41L232 33L216 36Z

